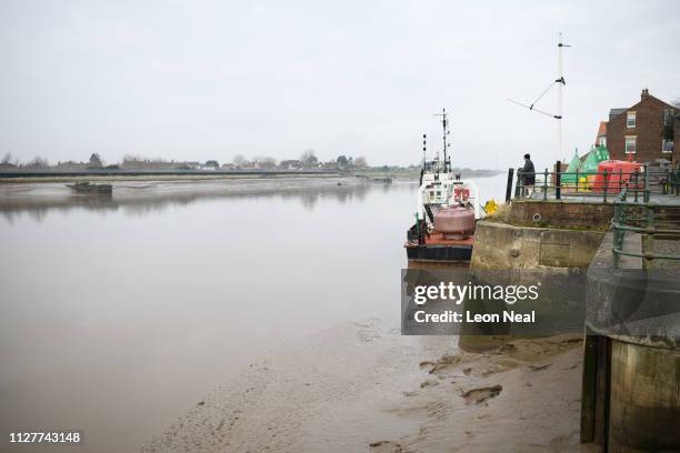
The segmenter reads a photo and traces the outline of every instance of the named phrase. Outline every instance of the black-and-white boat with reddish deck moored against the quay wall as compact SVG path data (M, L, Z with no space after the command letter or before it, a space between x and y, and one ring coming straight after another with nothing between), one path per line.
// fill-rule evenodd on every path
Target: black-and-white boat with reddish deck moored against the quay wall
M427 135L423 135L416 222L408 230L404 243L409 263L469 262L474 226L483 215L477 184L461 179L452 170L446 109L439 115L443 127L443 160L439 153L431 161L427 160Z

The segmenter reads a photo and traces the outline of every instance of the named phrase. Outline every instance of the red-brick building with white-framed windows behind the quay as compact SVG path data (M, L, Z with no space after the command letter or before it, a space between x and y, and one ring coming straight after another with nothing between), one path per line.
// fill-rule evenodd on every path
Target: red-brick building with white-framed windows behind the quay
M663 139L664 125L673 128L673 140ZM607 148L611 159L627 160L633 154L638 162L658 159L676 160L680 152L678 109L642 90L640 102L609 111Z

